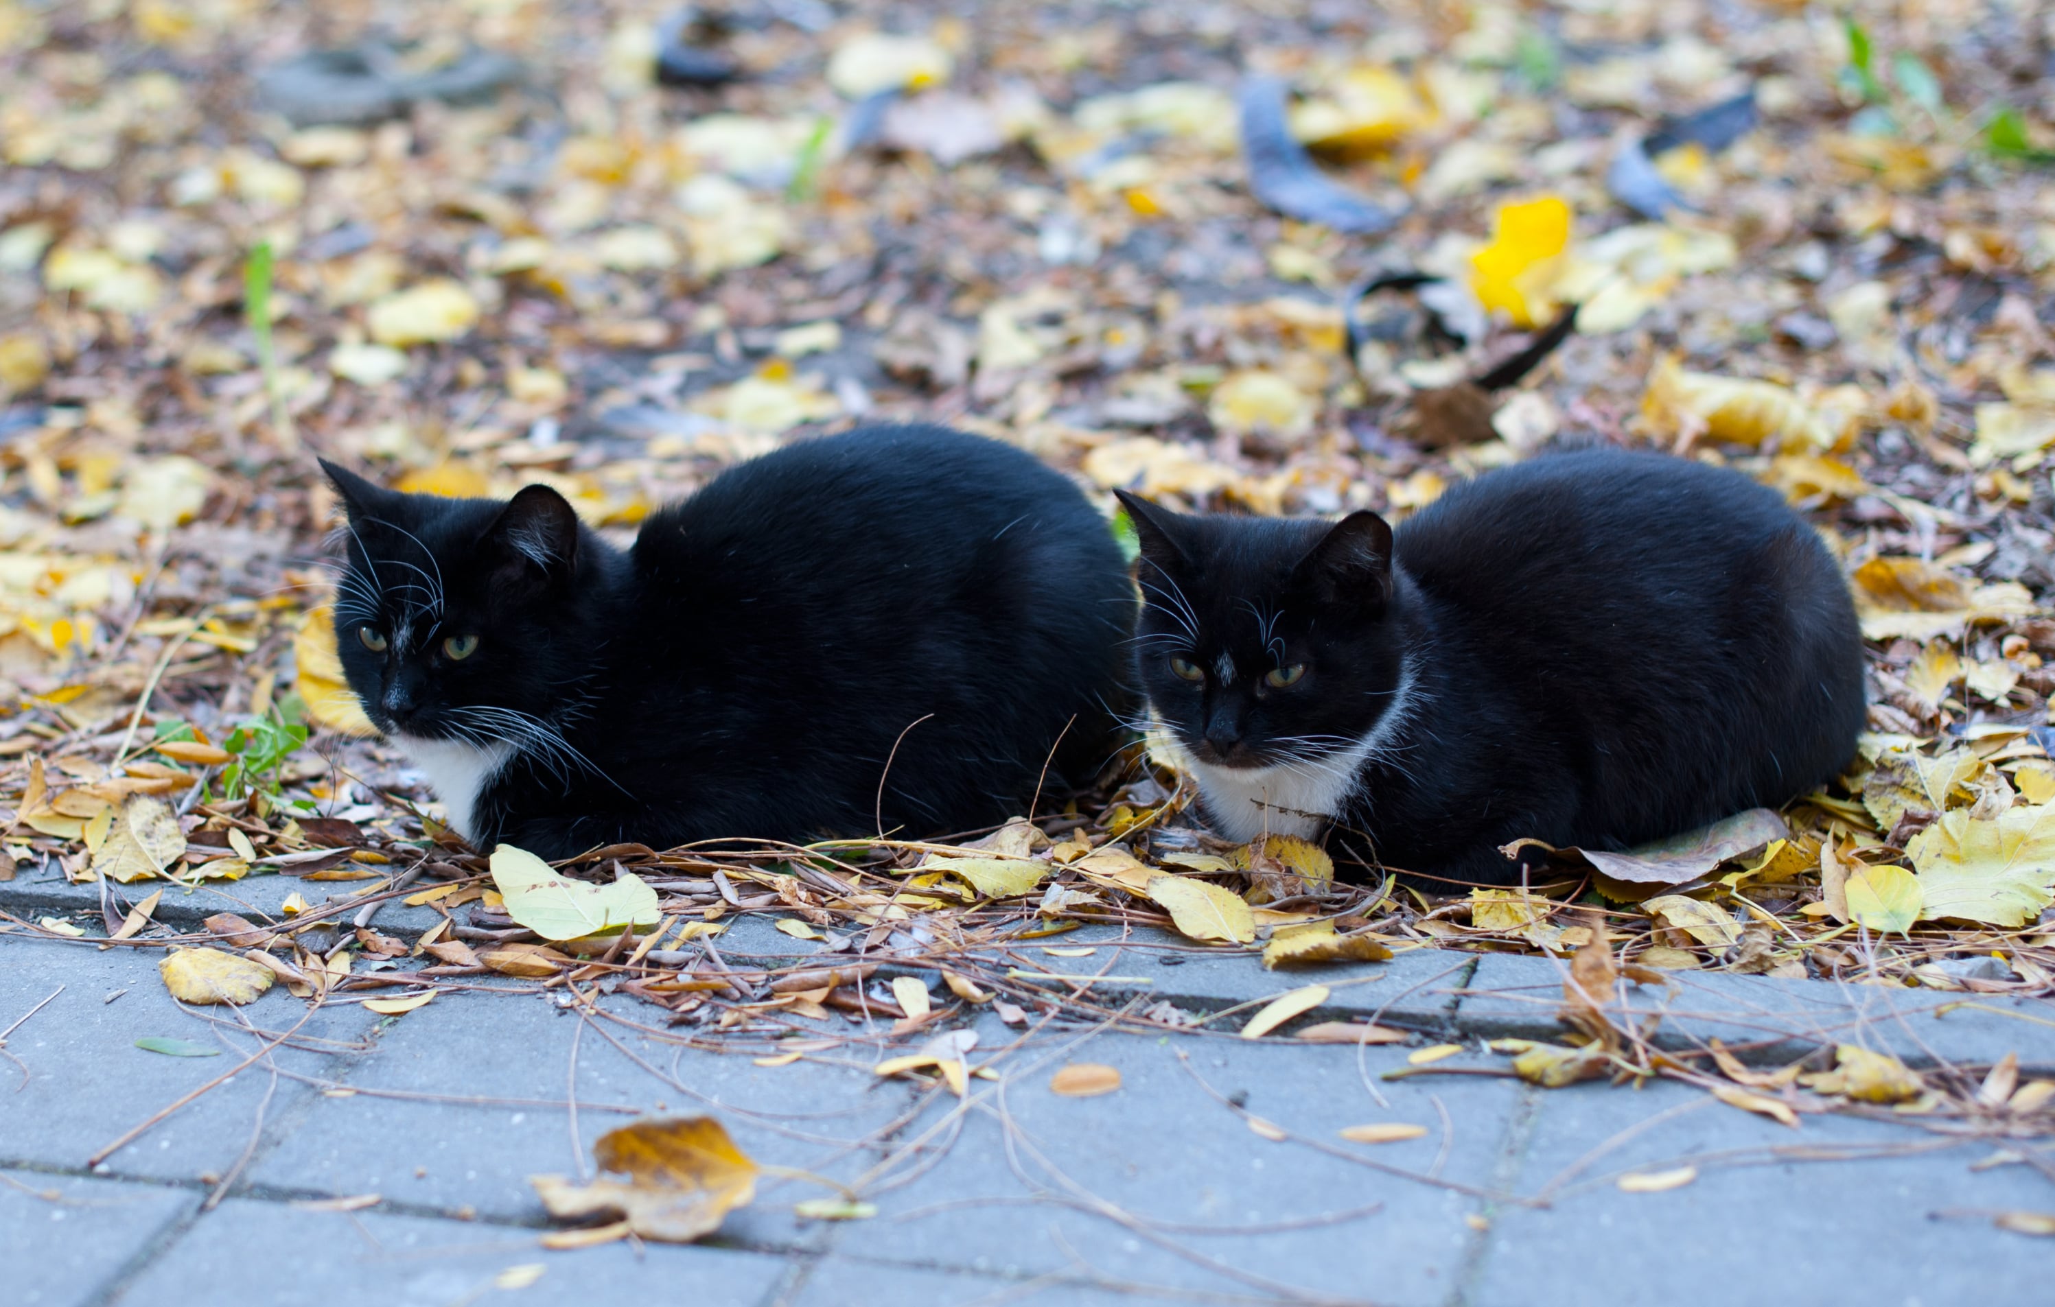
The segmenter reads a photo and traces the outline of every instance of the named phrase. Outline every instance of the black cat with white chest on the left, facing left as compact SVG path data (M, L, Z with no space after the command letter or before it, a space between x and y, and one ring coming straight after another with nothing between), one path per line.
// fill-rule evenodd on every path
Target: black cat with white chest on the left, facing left
M543 485L438 499L323 466L349 688L475 845L968 830L1021 812L1052 750L1048 793L1108 756L1134 588L1077 487L1005 444L795 444L625 553Z

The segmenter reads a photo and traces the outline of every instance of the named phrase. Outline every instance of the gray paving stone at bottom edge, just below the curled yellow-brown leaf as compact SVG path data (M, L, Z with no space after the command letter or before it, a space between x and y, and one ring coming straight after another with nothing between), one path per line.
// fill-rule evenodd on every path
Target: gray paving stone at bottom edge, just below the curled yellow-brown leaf
M526 1286L532 1270L540 1276ZM450 1307L452 1303L660 1303L754 1307L785 1276L783 1258L719 1247L608 1243L549 1252L532 1231L395 1217L310 1212L230 1198L111 1299L123 1307ZM510 1276L501 1282L499 1276Z

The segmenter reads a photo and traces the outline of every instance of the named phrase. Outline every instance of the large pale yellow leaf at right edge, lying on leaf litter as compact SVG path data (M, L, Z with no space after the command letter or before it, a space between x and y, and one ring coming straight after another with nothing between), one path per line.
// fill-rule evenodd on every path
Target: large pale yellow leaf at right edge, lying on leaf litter
M1956 808L1915 834L1926 921L1981 921L2016 929L2055 902L2055 804L1973 820Z

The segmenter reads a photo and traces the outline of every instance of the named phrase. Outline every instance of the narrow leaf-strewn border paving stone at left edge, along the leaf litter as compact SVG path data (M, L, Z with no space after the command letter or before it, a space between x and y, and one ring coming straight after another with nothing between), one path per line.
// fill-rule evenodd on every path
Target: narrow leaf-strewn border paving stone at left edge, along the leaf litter
M152 919L179 931L199 929L199 923L216 912L236 912L257 923L284 921L282 904L288 896L300 894L316 908L327 908L333 900L345 904L353 917L364 904L349 902L351 890L376 886L374 880L302 880L296 875L245 875L242 880L201 882L197 886L173 884L164 880L136 882L132 886L109 886L119 904L134 904L148 894L162 890ZM86 927L92 935L105 933L101 925L101 886L72 884L62 871L23 871L14 880L0 882L0 908L16 917L37 919L45 914L64 917ZM442 921L434 908L409 908L405 902L388 902L378 908L376 927L388 935L413 939L427 927Z

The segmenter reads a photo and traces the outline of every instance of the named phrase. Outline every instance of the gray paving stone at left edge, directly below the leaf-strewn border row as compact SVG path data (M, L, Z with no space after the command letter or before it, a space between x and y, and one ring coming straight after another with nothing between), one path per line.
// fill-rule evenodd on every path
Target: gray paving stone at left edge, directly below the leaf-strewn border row
M144 1036L201 1044L216 1044L218 1038L203 1017L173 1003L156 970L158 958L154 949L99 951L86 943L0 935L0 1025L62 986L47 1007L8 1036L6 1050L23 1060L29 1079L18 1093L12 1083L0 1087L6 1093L0 1161L84 1167L92 1153L129 1126L255 1052L257 1042L240 1032L218 1044L220 1056L181 1058L136 1048ZM107 1001L115 991L121 997ZM240 1009L263 1030L288 1030L304 1013L306 1007L284 988ZM210 1015L234 1019L226 1009ZM300 1034L356 1042L374 1021L362 1007L337 1005L316 1011ZM323 1075L335 1060L292 1048L273 1056L282 1069L302 1075ZM0 1062L0 1077L18 1079L18 1069ZM310 1095L286 1077L271 1089L263 1065L251 1067L109 1157L105 1167L115 1175L166 1180L226 1173L249 1147L267 1091L271 1101L263 1120L269 1126Z

